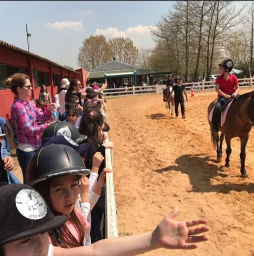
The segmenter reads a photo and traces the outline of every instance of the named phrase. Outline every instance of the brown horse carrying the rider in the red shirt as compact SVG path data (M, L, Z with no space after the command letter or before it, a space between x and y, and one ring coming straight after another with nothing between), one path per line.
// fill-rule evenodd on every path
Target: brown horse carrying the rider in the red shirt
M213 100L208 106L208 116L210 111L213 109L217 102L217 99ZM214 147L217 146L217 159L221 161L222 158L222 142L224 137L226 139L226 163L225 166L230 166L230 154L231 149L231 139L234 137L239 137L241 141L241 177L248 177L245 170L245 158L246 158L246 145L250 136L250 131L254 125L254 90L239 96L238 99L234 99L225 119L223 126L219 127L221 135L219 132L212 131L212 123L210 123L211 128L211 138ZM220 141L220 143L219 143Z

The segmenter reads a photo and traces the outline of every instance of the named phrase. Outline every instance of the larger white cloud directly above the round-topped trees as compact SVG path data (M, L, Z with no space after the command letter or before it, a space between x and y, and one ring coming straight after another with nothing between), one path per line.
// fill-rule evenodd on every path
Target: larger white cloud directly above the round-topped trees
M155 28L155 26L150 26ZM125 31L119 31L116 27L108 27L106 29L97 28L94 34L102 34L106 39L112 39L113 37L129 37L133 44L140 48L152 47L155 45L152 35L150 33L149 26L138 25L134 27L129 27Z

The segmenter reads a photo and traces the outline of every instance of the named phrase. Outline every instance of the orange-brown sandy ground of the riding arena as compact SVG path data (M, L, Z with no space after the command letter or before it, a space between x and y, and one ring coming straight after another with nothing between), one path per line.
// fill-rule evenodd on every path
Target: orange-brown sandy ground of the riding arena
M188 96L186 119L168 115L162 94L107 100L119 236L152 230L178 204L176 220L207 218L210 239L194 250L145 255L253 256L253 130L246 149L249 177L243 179L239 138L232 140L231 166L216 161L207 120L216 92ZM225 156L226 143L223 149ZM20 178L18 167L14 172Z

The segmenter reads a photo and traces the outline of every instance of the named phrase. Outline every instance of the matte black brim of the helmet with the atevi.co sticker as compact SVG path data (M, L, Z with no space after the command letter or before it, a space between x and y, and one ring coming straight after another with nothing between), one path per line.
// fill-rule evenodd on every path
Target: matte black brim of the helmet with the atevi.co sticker
M35 226L32 229L27 229L21 233L11 235L10 237L2 240L0 242L0 244L13 242L13 241L16 241L19 239L26 238L28 236L32 236L35 234L39 234L39 233L48 231L49 229L52 229L55 227L62 226L67 220L68 220L68 217L65 215L55 216L54 218L52 218L51 220L47 221L46 223L44 223L42 225L40 224L40 225ZM27 227L27 228L29 228L29 227Z

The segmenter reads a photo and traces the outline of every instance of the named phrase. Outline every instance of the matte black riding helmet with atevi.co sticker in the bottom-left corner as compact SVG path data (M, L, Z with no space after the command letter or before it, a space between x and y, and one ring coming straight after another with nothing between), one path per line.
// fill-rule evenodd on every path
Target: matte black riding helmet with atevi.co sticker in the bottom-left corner
M25 184L0 183L0 244L62 226L67 216L54 216L34 188Z

